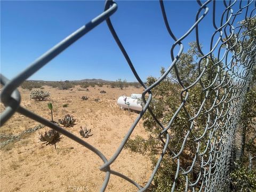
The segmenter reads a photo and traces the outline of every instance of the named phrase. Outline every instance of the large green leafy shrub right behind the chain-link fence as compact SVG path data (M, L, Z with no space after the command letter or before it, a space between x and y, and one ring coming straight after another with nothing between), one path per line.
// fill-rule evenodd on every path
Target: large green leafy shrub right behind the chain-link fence
M186 63L187 66L190 68L186 68L186 71L182 71L183 76L188 76L191 78L186 78L186 83L191 84L195 81L196 74L194 74L194 66L197 66L197 63L194 63L195 61L192 60L194 53L198 53L198 50L196 49L196 46L193 46L194 44L191 44L191 51L193 51L193 54L191 53L182 53L179 62ZM198 55L199 57L199 55ZM187 62L188 58L192 58L189 60L190 63ZM188 65L190 64L190 65ZM209 61L209 66L211 68L211 65L213 65L212 61ZM186 72L186 73L185 73ZM165 73L165 69L162 68L161 76ZM172 73L172 71L171 71ZM212 70L212 74L215 73L215 70ZM213 75L214 76L214 75ZM201 78L201 81L205 82L204 77ZM157 81L157 78L155 77L148 77L147 78L147 86L150 86L154 84ZM170 119L172 118L173 114L175 114L175 111L178 110L180 106L180 92L181 87L177 83L173 83L172 76L166 76L166 78L159 83L156 87L154 87L151 91L154 92L154 98L150 102L150 108L153 111L156 119L161 122L164 126L168 125L170 122ZM191 116L195 116L196 112L198 111L198 108L200 105L198 103L200 102L200 96L202 96L202 89L201 86L194 86L190 89L190 97L186 101L186 110L189 111ZM145 106L144 103L141 103L142 106ZM207 100L205 102L204 107L210 108L210 103ZM187 115L187 111L184 108L181 108L179 110L179 113L174 118L171 126L172 129L169 130L169 134L172 135L172 139L168 143L168 148L171 149L174 153L179 153L180 149L182 148L182 142L180 140L183 140L186 137L186 133L188 130L188 122L189 117ZM212 117L211 117L212 118ZM146 113L142 116L143 119L143 126L145 127L146 132L148 133L148 136L145 138L135 137L135 139L129 139L126 143L126 148L129 148L131 151L135 153L140 153L142 155L148 155L151 161L151 164L153 165L152 168L155 167L157 161L158 161L158 155L161 154L161 151L163 149L163 143L161 141L161 137L159 137L159 133L162 131L162 127L158 125L158 123L155 121L155 119L151 116L150 112L147 110ZM205 127L205 118L204 114L199 115L197 118L197 126L198 129L196 131L193 130L193 137L200 137L203 134L203 127ZM208 132L205 133L205 135L209 134ZM162 135L163 138L165 138L165 135ZM183 151L189 151L192 154L196 154L196 147L194 143L194 138L191 135L187 137L186 140L186 146L183 147ZM202 148L200 150L205 149L207 136L201 139L201 146ZM201 151L200 151L201 152ZM203 151L202 151L203 152ZM201 153L202 153L201 152ZM156 192L162 192L162 191L172 191L172 185L175 180L175 191L184 191L186 186L186 178L182 174L179 174L179 177L175 179L175 175L177 172L177 163L175 162L175 159L173 159L173 156L170 155L170 151L167 151L162 159L161 165L159 166L158 171L155 174L154 180L151 183L150 191L156 191ZM179 155L179 158L182 159L180 162L180 167L187 167L191 166L191 162L193 162L194 156L188 155L187 153L181 153ZM200 172L200 165L199 161L196 161L193 165L193 171L188 175L188 177L196 178L196 175ZM195 176L194 176L195 175ZM191 179L189 178L189 179ZM193 180L193 179L191 179ZM198 185L199 186L199 185ZM198 189L198 186L195 186L195 189Z

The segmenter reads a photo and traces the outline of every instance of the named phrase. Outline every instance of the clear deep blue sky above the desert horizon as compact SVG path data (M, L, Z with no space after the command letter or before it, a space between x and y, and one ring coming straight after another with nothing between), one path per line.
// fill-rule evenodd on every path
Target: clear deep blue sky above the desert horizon
M167 33L158 1L116 1L111 21L135 69L143 80L159 76L171 64L174 41ZM247 2L247 1L246 1ZM102 13L103 1L1 1L1 73L17 75L41 54ZM179 38L194 24L196 1L164 2L173 33ZM212 3L209 5L212 6ZM217 1L217 14L224 10ZM199 25L201 43L209 51L212 11ZM195 41L191 33L184 41ZM178 49L177 49L178 50ZM45 81L118 78L135 81L106 22L87 33L29 79Z

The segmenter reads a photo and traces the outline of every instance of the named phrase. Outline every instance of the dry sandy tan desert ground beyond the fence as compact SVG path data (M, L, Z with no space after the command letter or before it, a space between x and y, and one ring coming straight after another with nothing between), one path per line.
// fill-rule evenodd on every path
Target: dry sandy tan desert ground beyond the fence
M142 88L130 86L120 90L106 85L96 85L88 89L89 91L81 91L74 87L70 91L44 86L44 91L49 91L51 97L46 101L34 101L29 99L29 90L19 88L21 106L50 120L51 112L47 103L52 102L53 119L58 121L66 114L73 115L76 125L65 129L78 137L81 137L80 126L92 129L93 135L83 139L109 159L138 116L135 112L129 115L127 110L120 109L116 103L117 99L123 94L141 93ZM101 90L107 93L101 94ZM83 101L82 95L89 99ZM99 98L100 101L95 102L95 98ZM68 107L62 107L66 103ZM1 103L1 111L3 110L4 106ZM17 135L38 124L28 117L15 113L1 127L1 135ZM105 178L105 172L99 170L103 164L102 160L89 149L64 135L60 142L57 142L57 149L54 149L53 145L46 146L38 139L45 130L49 128L44 127L33 133L23 134L19 140L1 148L1 191L99 191ZM135 135L146 135L142 120L131 138ZM111 169L127 175L142 186L150 177L150 167L147 156L131 153L127 149L123 149L111 165ZM130 182L111 175L106 191L137 191L137 188Z

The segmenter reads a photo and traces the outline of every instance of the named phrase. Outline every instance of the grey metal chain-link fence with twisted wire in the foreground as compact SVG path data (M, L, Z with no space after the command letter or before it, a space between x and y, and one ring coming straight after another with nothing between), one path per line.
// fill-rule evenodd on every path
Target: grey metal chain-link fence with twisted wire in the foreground
M27 69L23 70L19 75L9 80L4 75L1 74L1 84L4 85L1 93L1 101L5 105L5 110L1 114L1 123L2 125L11 118L11 116L18 112L22 115L25 115L35 121L42 123L52 129L66 135L68 138L75 140L84 147L90 149L95 154L97 154L103 161L103 165L100 167L100 170L106 172L105 179L102 183L101 191L105 191L109 178L111 174L117 175L135 185L139 191L145 191L153 181L155 174L161 162L163 161L164 155L166 153L171 154L170 158L173 159L173 162L176 163L177 171L175 173L175 178L172 185L170 185L171 191L175 190L177 187L177 181L180 175L186 178L186 186L184 186L185 191L222 191L228 189L227 175L230 171L230 161L231 161L231 150L233 147L233 142L235 139L236 128L239 121L239 116L241 113L244 95L247 90L252 78L252 70L255 66L255 24L250 28L250 23L255 22L255 7L256 3L254 1L223 1L223 5L226 7L223 11L220 20L220 26L217 26L215 22L215 1L206 1L195 2L198 4L198 12L196 14L196 20L193 26L179 39L172 33L172 30L169 26L169 21L167 20L165 7L163 1L159 1L164 23L167 31L169 32L171 38L174 40L171 47L171 60L172 63L167 68L165 73L152 85L147 86L137 74L131 59L126 53L124 46L119 40L115 29L111 23L110 16L113 15L117 10L117 4L114 1L106 1L104 12L98 15L90 22L88 22L83 27L77 29L73 34L69 35L67 38L63 39L60 43L55 45L52 49L47 51L36 61L34 61ZM209 14L209 5L212 3L212 12L213 20L212 25L215 28L215 31L211 37L210 51L204 53L201 49L201 44L199 41L199 23ZM238 10L234 11L233 8L238 4ZM245 5L243 5L245 4ZM249 7L252 7L252 11L249 12ZM237 23L237 15L244 14L244 22ZM138 82L145 88L145 91L142 93L142 100L145 103L141 113L135 119L134 123L131 125L130 130L125 135L125 138L121 142L120 146L116 150L115 154L107 159L101 151L97 148L91 146L86 141L81 138L76 137L74 134L68 132L62 127L59 127L52 122L44 119L43 117L34 114L26 108L20 106L20 93L17 90L17 87L20 86L28 77L33 75L37 70L42 68L46 63L51 61L53 58L57 57L62 51L64 51L71 44L76 42L79 38L85 35L87 32L92 30L94 27L98 26L101 22L107 22L108 28L113 35L119 49L122 51L128 65L130 66L134 76L137 78ZM245 30L247 28L247 30ZM182 41L185 39L193 30L196 34L196 44L199 53L202 57L198 60L198 77L194 83L191 83L188 86L183 84L183 79L179 76L179 70L177 68L177 62L180 59L180 56L183 52ZM237 33L235 31L238 31ZM250 41L247 41L247 37L251 37ZM218 37L217 41L214 42L214 37ZM174 53L175 47L179 47L178 54ZM219 48L217 48L219 47ZM225 47L225 53L220 55L220 50ZM214 59L213 52L218 52L217 59ZM230 56L229 56L230 55ZM229 60L229 61L228 61ZM213 62L211 66L211 78L210 82L206 85L202 81L202 76L205 71L210 68L209 63ZM221 64L222 63L222 64ZM213 69L215 73L213 73ZM152 89L159 85L164 79L170 74L171 70L175 71L177 76L177 82L182 87L181 91L181 102L177 111L170 118L167 126L164 126L160 119L156 118L154 110L149 107L150 102L153 98ZM195 87L200 86L203 97L201 97L200 107L196 113L191 113L186 109L186 101L189 98L190 90ZM147 94L147 97L145 97ZM206 101L211 99L211 106L205 105ZM187 128L187 133L183 138L181 148L178 150L178 153L175 153L171 149L169 143L171 140L170 132L172 130L172 124L174 119L180 113L180 111L186 111L188 116L189 127ZM133 181L129 177L119 172L116 172L110 168L110 165L115 161L118 155L123 150L125 143L130 138L133 130L136 125L145 114L146 110L151 114L154 121L162 127L162 132L159 134L159 139L163 143L162 153L158 157L158 161L155 165L153 172L145 186L139 185L139 183ZM193 129L196 127L196 121L199 115L204 115L207 118L203 134L200 137L195 137L192 134ZM194 155L194 160L191 162L190 166L182 167L180 163L180 155L185 149L186 142L188 137L194 137L193 142L197 146L196 153ZM205 146L202 150L202 146ZM199 171L196 178L191 179L189 176L195 165L199 165Z

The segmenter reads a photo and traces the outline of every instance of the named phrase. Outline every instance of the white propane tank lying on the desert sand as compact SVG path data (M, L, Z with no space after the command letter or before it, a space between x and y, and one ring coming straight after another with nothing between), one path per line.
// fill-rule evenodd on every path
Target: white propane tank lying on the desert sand
M117 105L124 109L132 109L141 111L142 106L140 105L139 99L141 98L141 94L131 94L131 97L121 96L117 100ZM130 104L130 105L129 105Z

